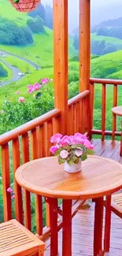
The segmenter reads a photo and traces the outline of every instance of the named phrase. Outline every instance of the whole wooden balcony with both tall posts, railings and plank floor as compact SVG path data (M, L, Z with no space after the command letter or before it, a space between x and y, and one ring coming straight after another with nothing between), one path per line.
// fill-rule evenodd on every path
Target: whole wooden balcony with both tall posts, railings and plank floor
M116 137L120 139L120 122L111 113L112 106L120 103L122 81L90 79L90 0L79 2L79 95L68 100L68 1L54 0L54 109L0 135L0 200L3 209L0 221L16 217L17 221L46 241L46 255L50 251L49 205L46 198L21 190L14 179L17 168L32 159L49 157L50 137L57 132L63 135L81 132L87 134L89 139L95 136L98 139L94 140L95 154L113 158L120 163L122 161L120 142L115 141ZM108 105L109 87L113 91L113 103ZM99 107L96 104L97 98ZM14 187L15 200L7 191L10 186ZM94 204L89 210L79 210L73 220L74 256L92 255L93 214ZM61 227L59 222L59 255ZM112 255L122 255L121 244L122 223L120 218L113 215Z

